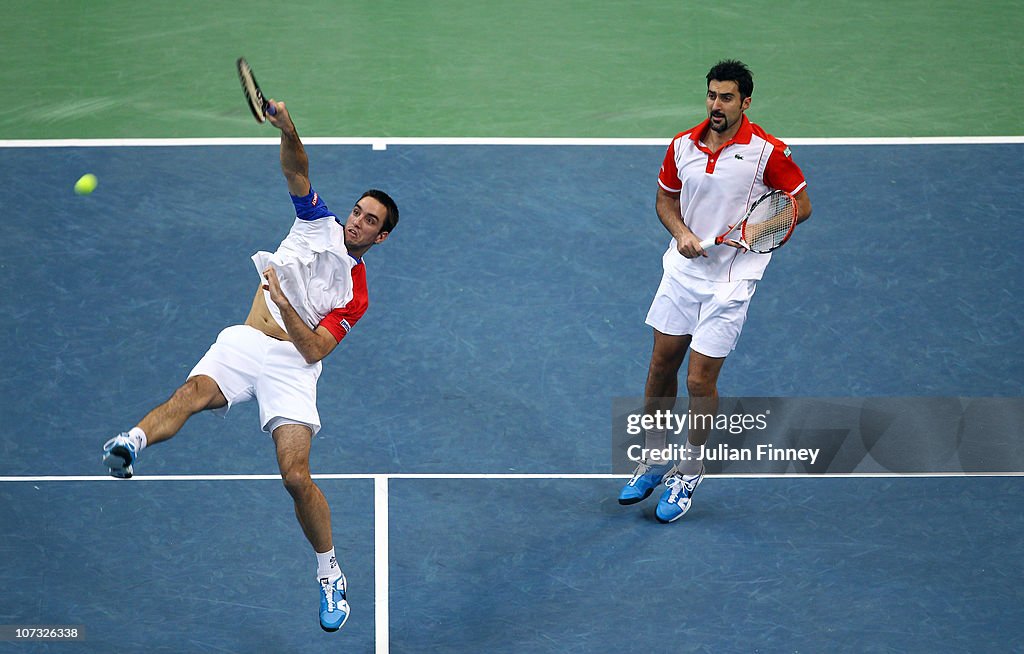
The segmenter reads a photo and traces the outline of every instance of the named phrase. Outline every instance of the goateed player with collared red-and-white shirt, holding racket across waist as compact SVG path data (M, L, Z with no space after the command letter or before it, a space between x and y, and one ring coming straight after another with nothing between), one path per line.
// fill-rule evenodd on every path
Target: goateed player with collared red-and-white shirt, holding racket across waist
M700 242L725 232L755 200L774 188L795 197L798 222L811 215L807 182L790 148L745 116L753 91L754 79L743 63L716 63L708 73L708 120L678 134L662 164L655 207L672 242L647 313L647 324L654 331L644 389L648 415L674 406L687 351L689 411L718 410L719 373L736 347L746 307L771 260L771 255L746 252L735 242L726 242L732 248L707 252ZM641 461L620 493L620 504L636 504L665 481L655 515L662 522L681 518L703 479L699 457L709 432L706 423L691 425L678 462ZM665 430L646 432L645 449L666 446Z

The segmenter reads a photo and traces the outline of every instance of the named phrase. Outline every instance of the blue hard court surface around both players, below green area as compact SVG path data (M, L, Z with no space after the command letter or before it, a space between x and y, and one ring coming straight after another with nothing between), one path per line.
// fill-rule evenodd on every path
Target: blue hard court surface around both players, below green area
M646 377L664 144L308 151L338 213L375 185L402 212L319 382L349 623L316 624L254 403L195 417L136 479L100 465L245 319L249 256L293 220L278 148L4 147L0 624L87 637L0 652L1020 651L1019 476L710 477L672 525L656 496L615 503L610 402ZM814 217L721 394L1024 395L1024 144L794 155ZM100 186L77 197L84 171Z

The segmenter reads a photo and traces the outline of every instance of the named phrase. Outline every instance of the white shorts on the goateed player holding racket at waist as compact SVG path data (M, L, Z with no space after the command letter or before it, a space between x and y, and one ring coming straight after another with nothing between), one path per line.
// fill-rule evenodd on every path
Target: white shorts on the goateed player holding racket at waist
M690 347L706 356L728 356L739 342L756 279L710 281L665 273L647 324L662 334L692 335Z

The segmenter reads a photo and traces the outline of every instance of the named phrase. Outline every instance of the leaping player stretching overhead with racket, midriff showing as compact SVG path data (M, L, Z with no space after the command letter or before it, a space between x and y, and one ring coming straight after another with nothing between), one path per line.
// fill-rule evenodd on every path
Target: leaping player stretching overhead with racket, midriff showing
M348 619L345 575L335 556L331 510L309 475L309 448L319 431L316 381L321 361L368 306L362 255L398 223L398 208L368 190L342 223L309 184L309 162L284 102L270 123L281 130L281 169L296 219L273 254L253 255L260 288L245 324L225 329L185 383L134 428L103 445L115 477L132 476L146 445L174 436L195 413L226 413L255 398L260 425L271 434L295 515L316 553L321 626L336 631Z

